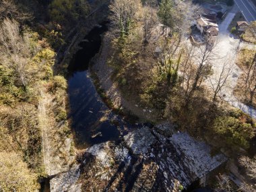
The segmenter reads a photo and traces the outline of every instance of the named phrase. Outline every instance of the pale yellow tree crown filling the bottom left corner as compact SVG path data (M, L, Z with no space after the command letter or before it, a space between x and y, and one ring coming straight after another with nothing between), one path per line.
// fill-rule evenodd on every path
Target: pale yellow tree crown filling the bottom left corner
M0 191L38 191L36 174L19 154L0 152Z

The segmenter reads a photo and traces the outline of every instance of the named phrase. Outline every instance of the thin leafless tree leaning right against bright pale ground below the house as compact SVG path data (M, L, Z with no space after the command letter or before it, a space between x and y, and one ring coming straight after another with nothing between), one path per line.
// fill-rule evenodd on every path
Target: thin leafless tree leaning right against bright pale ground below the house
M222 88L224 88L228 84L228 78L230 77L232 73L232 61L230 59L227 59L224 62L224 65L222 65L222 69L220 71L220 74L212 75L210 76L210 83L211 88L214 92L214 96L212 100L215 102L217 99L218 94L222 91Z

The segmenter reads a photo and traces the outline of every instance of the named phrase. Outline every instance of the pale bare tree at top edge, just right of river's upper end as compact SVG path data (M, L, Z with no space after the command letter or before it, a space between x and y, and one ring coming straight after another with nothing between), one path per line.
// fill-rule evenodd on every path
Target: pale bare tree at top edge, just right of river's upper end
M109 5L110 20L121 38L129 34L131 23L137 19L137 11L141 8L140 0L113 0Z

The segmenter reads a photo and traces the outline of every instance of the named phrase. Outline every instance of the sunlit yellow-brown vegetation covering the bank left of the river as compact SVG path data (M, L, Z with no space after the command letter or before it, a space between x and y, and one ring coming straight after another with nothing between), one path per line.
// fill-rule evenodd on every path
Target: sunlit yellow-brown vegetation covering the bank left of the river
M72 160L67 83L53 75L49 42L26 26L32 17L13 1L0 5L0 191L36 191Z

